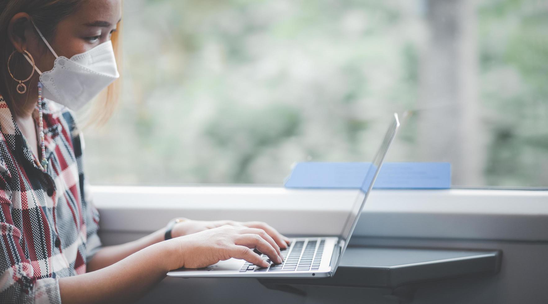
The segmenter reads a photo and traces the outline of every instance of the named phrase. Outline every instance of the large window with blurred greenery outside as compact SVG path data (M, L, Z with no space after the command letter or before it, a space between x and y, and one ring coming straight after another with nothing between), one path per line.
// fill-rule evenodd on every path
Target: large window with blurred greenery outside
M548 5L124 2L122 105L95 184L281 183L294 162L446 161L460 186L548 186ZM385 119L386 118L386 119Z

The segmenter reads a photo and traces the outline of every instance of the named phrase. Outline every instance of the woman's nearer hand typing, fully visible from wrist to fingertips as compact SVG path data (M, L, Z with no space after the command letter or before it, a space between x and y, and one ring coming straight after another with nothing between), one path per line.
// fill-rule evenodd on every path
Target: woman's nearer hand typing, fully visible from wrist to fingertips
M225 225L173 238L167 242L174 242L179 246L179 259L174 259L178 261L175 268L202 268L231 257L268 267L269 263L254 253L254 248L273 262L283 261L276 242L265 230L258 228Z

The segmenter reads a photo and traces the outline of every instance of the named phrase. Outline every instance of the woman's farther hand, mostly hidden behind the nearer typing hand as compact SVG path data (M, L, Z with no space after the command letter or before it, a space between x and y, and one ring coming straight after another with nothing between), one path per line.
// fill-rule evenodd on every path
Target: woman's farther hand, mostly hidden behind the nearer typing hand
M236 221L193 221L185 220L180 223L176 223L172 230L172 236L181 237L188 234L193 234L201 232L204 230L213 229L216 227L221 227L224 225L230 225L234 227L247 227L247 228L256 228L264 230L276 244L282 248L286 249L290 240L287 237L282 236L276 229L272 228L265 222L236 222ZM262 252L262 251L261 251Z

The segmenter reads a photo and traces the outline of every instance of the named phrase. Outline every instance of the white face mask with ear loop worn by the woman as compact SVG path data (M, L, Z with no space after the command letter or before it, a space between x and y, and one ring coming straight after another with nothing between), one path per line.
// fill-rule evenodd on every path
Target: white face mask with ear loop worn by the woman
M110 40L68 59L58 56L36 25L35 28L56 58L50 71L42 73L35 66L43 97L77 111L120 77ZM25 58L31 62L26 55Z

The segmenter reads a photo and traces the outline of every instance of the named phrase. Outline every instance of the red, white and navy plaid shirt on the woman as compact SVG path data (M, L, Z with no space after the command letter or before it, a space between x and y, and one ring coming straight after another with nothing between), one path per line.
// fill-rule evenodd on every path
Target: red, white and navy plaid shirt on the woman
M60 303L59 278L85 273L100 246L73 116L46 100L43 121L47 173L0 96L0 303Z

